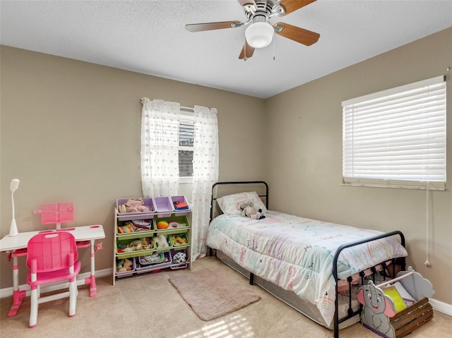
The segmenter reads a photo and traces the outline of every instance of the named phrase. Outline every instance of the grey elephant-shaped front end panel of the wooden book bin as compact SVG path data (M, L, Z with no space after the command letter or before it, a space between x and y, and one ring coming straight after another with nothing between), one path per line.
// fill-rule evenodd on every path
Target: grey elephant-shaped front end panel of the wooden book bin
M391 298L383 294L383 290L375 286L372 281L369 284L359 286L357 298L362 303L361 322L371 330L381 332L388 338L395 338L396 332L389 318L396 315Z

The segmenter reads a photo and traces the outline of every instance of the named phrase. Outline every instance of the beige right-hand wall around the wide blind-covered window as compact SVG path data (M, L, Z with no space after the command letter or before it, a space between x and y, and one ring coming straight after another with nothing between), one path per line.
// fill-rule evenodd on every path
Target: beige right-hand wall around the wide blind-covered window
M270 209L329 222L399 229L408 264L452 304L452 28L266 99L266 181ZM447 76L448 190L434 191L426 267L426 192L341 186L341 102L370 92ZM284 151L283 151L284 150Z

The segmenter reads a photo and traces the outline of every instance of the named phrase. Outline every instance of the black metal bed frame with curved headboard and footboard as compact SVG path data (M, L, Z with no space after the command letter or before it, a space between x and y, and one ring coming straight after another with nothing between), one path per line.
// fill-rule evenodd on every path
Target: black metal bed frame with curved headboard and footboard
M265 189L266 192L265 192L265 194L261 194L258 196L261 198L265 197L265 204L266 204L266 208L268 209L268 184L265 181L217 182L217 183L214 183L212 186L212 197L210 199L210 222L212 222L212 219L213 219L214 201L217 200L217 197L214 194L215 187L220 186L220 185L240 185L240 184L263 184L266 187L266 189ZM214 195L215 195L215 197L214 197ZM332 267L333 277L335 280L335 312L334 312L334 322L333 322L334 338L339 338L339 324L341 322L345 322L345 320L355 317L355 315L359 315L359 313L361 313L361 308L357 311L352 310L352 277L348 277L347 282L348 282L348 294L349 294L348 299L349 299L349 301L348 301L347 315L344 318L339 318L338 258L339 258L340 253L344 249L351 248L352 246L359 246L360 244L363 244L363 243L367 243L367 242L375 241L377 239L383 239L383 238L395 236L395 235L400 236L400 243L402 244L403 247L405 247L405 236L403 235L403 233L401 231L396 230L396 231L388 232L386 234L372 236L372 237L369 237L368 239L362 239L360 241L353 241L350 243L345 243L342 246L339 246L339 248L336 250L334 258L333 258L333 267ZM210 255L212 255L211 249L210 249ZM380 264L377 264L377 265L381 265L381 267L383 267L383 270L381 270L381 271L383 272L383 279L386 279L386 277L388 277L388 276L386 276L386 267L387 267L386 262L381 262ZM400 265L401 270L405 270L405 257L393 258L391 265L393 267L393 276L395 276L396 275L396 265ZM376 273L377 273L376 266L369 267L371 269L372 279L374 279L374 282L375 282L375 277L376 277ZM364 271L359 272L359 276L361 277L361 284L364 284ZM251 285L254 284L254 274L252 272L249 273L249 284L251 284Z

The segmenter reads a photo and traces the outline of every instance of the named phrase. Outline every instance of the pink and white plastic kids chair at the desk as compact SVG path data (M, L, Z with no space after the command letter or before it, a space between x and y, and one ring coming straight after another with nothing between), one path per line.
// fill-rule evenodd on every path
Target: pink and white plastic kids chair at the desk
M27 267L30 270L30 327L37 325L38 304L69 296L69 317L76 315L77 281L81 262L77 260L76 239L67 231L44 231L28 241ZM40 296L40 286L69 281L69 291L51 296Z

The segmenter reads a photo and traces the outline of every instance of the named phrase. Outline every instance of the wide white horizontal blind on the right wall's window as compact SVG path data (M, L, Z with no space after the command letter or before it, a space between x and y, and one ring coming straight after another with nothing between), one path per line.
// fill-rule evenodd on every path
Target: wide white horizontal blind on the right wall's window
M444 76L342 106L343 184L445 190Z

